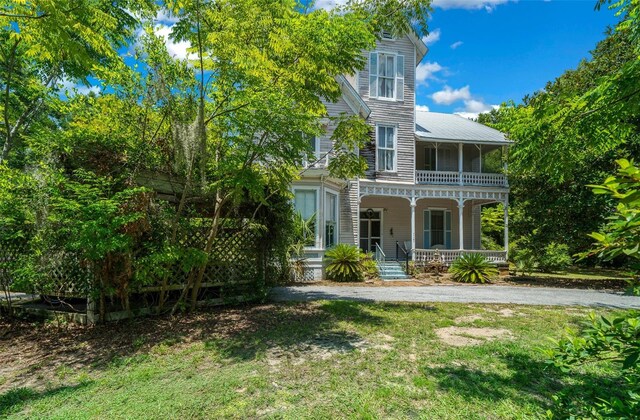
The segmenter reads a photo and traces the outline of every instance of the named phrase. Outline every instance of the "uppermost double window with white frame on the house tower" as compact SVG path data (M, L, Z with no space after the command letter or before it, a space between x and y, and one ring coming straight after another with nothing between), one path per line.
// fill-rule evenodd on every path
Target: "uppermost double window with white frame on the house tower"
M404 56L369 55L369 97L404 100Z

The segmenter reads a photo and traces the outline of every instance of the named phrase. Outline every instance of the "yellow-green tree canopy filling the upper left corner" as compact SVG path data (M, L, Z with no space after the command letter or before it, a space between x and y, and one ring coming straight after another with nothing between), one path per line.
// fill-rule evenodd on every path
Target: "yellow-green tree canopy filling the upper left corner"
M87 83L124 69L118 50L153 0L0 2L0 163L64 80Z

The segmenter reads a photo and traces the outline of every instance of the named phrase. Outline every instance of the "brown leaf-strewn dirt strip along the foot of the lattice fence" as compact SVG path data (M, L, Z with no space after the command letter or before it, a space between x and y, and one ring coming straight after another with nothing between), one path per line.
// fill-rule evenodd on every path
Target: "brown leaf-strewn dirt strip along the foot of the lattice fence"
M312 328L327 322L328 317L315 304L268 304L217 308L175 317L137 318L95 326L60 326L23 320L9 323L0 319L0 393L17 387L44 389L58 382L68 383L70 378L86 370L99 371L121 358L164 354L169 349L175 351L194 342L223 345L228 342L229 357L255 357L258 350L237 344L239 337L278 329L286 323L308 324ZM282 342L289 339L284 333L278 337ZM328 339L329 342L332 340L335 341ZM318 338L317 342L309 343L307 352L330 347L321 341Z

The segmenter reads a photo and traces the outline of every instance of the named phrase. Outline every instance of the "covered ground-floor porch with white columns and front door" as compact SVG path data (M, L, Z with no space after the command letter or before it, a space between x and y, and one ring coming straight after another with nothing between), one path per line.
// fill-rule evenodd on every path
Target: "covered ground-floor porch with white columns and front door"
M358 211L358 244L386 260L428 262L438 250L445 264L464 253L480 253L489 261L507 261L507 193L432 189L364 188ZM482 249L483 205L505 204L504 249Z

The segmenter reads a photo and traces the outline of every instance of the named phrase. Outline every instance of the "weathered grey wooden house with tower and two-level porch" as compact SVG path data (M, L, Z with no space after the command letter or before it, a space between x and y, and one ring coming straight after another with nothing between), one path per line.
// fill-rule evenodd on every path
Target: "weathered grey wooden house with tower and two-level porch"
M316 220L307 279L322 277L324 252L339 242L374 252L378 260L401 257L400 249L428 261L439 249L447 263L471 251L506 261L506 227L504 250L481 249L480 210L504 203L508 225L502 162L510 141L457 115L416 111L415 69L426 53L413 34L383 37L362 71L339 78L342 98L327 109L371 125L371 142L359 152L368 170L359 179L332 178L326 164L333 127L311 140L321 159L293 185L296 210Z

